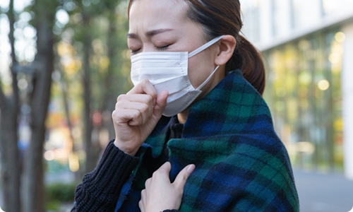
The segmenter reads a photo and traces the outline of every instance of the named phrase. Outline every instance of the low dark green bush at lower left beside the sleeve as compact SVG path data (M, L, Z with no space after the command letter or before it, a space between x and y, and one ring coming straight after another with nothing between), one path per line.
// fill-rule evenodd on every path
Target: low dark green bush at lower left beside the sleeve
M71 183L71 184L56 183L56 184L47 185L47 188L46 188L47 203L50 206L55 206L56 201L73 202L75 198L75 189L77 185L78 185L77 183Z

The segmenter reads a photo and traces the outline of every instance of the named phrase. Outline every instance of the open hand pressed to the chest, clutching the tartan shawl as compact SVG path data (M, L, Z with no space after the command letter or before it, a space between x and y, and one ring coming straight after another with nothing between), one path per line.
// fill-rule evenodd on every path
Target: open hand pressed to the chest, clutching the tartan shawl
M186 179L195 170L195 165L184 167L173 183L170 183L169 172L171 165L164 163L153 173L152 178L145 182L145 189L141 192L138 206L142 212L160 212L167 209L179 210L183 197Z

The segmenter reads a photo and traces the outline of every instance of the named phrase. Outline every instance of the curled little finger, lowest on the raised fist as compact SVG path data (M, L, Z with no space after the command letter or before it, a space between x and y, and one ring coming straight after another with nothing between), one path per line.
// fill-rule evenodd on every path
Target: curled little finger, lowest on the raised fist
M143 122L138 110L114 110L112 116L118 125L128 123L131 126L139 126Z

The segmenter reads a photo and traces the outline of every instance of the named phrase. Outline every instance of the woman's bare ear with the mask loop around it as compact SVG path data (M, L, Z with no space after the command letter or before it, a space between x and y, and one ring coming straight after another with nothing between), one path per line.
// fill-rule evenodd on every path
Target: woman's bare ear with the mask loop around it
M225 35L219 42L218 52L215 57L215 64L222 66L227 64L227 61L232 57L237 40L232 35Z

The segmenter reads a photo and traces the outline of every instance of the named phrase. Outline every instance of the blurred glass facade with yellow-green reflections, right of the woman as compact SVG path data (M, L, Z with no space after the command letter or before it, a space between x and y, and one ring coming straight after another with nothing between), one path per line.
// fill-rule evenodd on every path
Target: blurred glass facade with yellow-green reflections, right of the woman
M342 42L323 30L264 52L264 94L294 166L342 171Z

